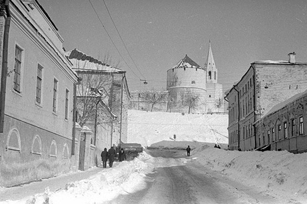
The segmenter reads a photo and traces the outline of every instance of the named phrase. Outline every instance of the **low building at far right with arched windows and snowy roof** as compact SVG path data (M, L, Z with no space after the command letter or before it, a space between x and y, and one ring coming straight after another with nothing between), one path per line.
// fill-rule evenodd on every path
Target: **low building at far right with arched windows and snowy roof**
M307 90L274 106L255 124L259 150L307 151Z

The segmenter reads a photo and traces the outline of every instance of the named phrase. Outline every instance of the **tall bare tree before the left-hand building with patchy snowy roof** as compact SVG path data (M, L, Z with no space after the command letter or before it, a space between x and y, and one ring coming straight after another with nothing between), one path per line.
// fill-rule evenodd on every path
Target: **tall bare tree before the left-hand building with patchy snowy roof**
M73 62L74 71L82 78L81 83L76 87L76 108L78 123L81 126L87 122L95 122L95 125L99 125L110 123L112 120L108 99L113 83L113 71L118 69L108 63L111 63L108 55L104 56L101 64L87 60Z

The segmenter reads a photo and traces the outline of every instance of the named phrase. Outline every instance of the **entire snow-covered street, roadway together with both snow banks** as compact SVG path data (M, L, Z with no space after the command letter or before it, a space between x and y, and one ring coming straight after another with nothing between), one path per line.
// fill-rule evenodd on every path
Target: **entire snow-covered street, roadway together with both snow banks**
M191 151L191 157L186 157L184 150L146 151L133 161L115 163L111 169L87 170L87 178L68 182L63 189L49 190L58 183L46 179L51 182L45 193L32 192L21 199L16 199L16 194L16 198L12 196L5 201L2 195L6 190L14 192L19 188L26 192L46 180L3 188L0 203L307 202L303 176L307 154L227 151L206 145ZM247 163L248 160L254 163ZM279 165L285 160L288 161L285 165ZM301 172L294 174L293 169Z

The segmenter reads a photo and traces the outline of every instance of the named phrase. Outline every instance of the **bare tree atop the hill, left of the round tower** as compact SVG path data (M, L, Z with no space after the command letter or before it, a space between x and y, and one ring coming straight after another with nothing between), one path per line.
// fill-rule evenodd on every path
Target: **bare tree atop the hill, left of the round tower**
M168 91L159 91L152 88L150 91L141 91L140 97L151 105L150 112L152 112L153 106L162 101L167 101L169 92Z

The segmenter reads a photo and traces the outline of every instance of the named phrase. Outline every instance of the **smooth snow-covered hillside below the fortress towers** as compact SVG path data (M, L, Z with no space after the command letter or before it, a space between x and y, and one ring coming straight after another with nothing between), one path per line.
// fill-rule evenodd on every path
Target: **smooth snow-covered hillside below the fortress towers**
M228 115L128 110L128 142L150 146L162 140L228 143Z

